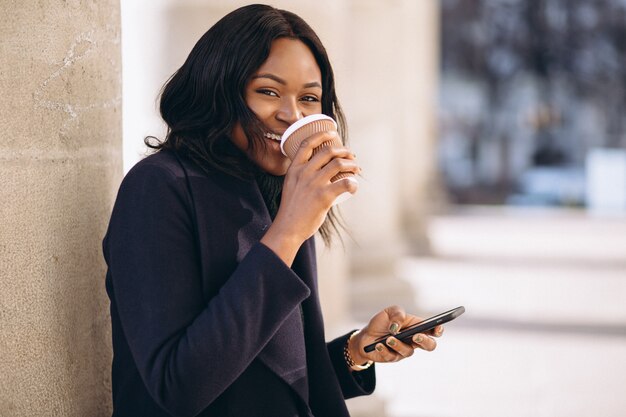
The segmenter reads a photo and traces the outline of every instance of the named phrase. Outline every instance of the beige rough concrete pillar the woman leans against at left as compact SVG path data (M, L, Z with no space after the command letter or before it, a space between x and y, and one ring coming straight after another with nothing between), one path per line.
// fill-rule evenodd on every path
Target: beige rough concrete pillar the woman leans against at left
M0 415L110 416L117 0L2 2Z

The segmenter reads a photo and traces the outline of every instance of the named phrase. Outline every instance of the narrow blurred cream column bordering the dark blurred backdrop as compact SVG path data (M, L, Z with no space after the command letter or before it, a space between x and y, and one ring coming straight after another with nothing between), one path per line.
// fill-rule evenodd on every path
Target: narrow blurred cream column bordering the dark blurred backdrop
M437 102L439 94L439 2L404 2L398 22L403 41L397 50L404 103L396 123L402 134L396 156L400 161L400 212L403 234L413 254L430 252L428 216L444 204L437 173Z

